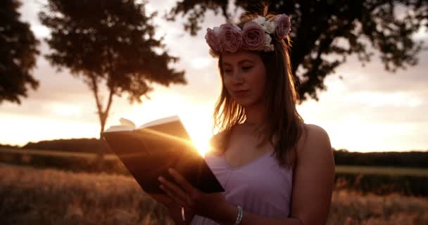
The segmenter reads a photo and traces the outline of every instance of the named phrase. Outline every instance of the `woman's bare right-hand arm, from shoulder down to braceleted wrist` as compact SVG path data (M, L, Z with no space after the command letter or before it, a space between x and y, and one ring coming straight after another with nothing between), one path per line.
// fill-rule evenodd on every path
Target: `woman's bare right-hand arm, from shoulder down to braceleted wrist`
M334 157L327 132L308 124L306 139L298 147L291 194L291 216L287 219L261 217L244 211L241 225L326 224L334 186ZM220 224L234 224L237 207L225 206Z

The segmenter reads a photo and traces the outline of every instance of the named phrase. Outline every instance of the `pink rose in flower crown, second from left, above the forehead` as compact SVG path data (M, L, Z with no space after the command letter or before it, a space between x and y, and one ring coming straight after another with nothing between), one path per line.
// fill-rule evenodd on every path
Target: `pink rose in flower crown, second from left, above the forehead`
M225 23L220 26L220 42L223 50L234 53L242 44L241 28L234 23Z

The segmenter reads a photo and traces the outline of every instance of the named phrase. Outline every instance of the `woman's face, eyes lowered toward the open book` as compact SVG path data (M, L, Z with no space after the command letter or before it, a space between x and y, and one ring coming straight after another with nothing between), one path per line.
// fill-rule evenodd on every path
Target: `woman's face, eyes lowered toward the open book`
M260 103L265 91L265 65L257 53L239 50L222 54L223 83L230 96L244 107Z

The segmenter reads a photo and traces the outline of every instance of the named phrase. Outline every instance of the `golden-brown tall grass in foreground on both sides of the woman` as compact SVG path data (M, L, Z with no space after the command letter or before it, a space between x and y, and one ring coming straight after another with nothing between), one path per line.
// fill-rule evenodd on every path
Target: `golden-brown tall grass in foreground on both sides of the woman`
M129 176L0 165L2 224L172 224ZM328 224L428 224L428 199L334 191Z

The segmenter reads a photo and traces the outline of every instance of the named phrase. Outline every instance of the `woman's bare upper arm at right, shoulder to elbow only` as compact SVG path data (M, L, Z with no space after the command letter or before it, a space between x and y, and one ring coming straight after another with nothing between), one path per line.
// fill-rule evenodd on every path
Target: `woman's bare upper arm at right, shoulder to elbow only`
M326 224L334 187L334 155L327 132L308 124L308 137L297 153L291 217L302 224Z

